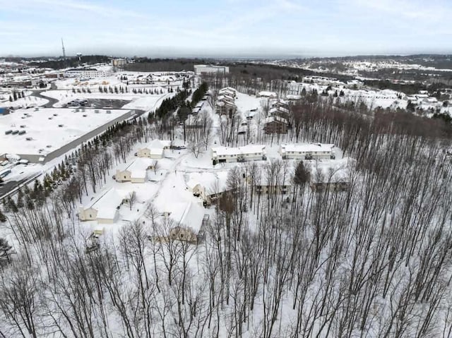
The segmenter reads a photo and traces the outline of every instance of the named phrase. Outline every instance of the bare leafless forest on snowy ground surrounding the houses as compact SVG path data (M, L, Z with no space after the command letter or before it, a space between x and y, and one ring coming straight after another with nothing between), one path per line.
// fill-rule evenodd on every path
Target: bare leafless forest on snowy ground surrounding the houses
M85 251L81 196L137 142L168 135L154 119L109 129L3 201L17 255L1 241L0 337L452 337L450 126L308 99L291 109L290 138L350 157L350 188L312 191L310 176L334 175L316 162L239 164L198 245L162 240L174 224L150 204ZM258 195L263 177L291 191Z

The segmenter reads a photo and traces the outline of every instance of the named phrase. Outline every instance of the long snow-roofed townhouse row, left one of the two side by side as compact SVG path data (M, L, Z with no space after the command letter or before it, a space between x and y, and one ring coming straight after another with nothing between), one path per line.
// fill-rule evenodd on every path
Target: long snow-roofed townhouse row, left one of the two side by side
M227 162L259 161L267 159L265 145L244 145L243 147L213 147L213 164Z

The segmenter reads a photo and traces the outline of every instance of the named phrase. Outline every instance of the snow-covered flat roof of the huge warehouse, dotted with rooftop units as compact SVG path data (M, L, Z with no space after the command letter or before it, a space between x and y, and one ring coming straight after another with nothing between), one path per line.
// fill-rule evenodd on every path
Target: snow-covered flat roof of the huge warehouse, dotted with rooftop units
M47 154L126 114L125 110L20 109L0 116L0 154ZM83 116L86 115L86 116ZM6 131L25 131L6 135ZM27 140L31 138L31 140Z

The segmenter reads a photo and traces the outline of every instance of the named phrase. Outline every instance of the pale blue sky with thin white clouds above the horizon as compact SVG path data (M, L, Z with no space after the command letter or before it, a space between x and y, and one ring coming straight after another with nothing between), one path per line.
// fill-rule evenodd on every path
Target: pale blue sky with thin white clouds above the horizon
M0 55L452 53L452 0L0 0Z

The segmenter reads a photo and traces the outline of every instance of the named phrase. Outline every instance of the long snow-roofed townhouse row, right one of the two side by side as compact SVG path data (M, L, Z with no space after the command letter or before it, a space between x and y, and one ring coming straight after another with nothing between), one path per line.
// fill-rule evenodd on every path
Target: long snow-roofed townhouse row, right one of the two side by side
M283 159L331 159L334 145L322 143L282 144L280 155Z

